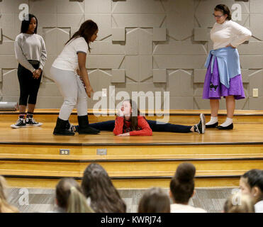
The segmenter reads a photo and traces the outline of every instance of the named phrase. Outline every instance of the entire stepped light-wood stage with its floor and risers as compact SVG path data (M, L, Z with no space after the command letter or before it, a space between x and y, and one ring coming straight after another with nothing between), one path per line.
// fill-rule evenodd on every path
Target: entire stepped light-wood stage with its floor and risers
M90 113L90 111L89 111ZM193 125L198 114L209 111L171 111L170 123ZM196 187L237 187L239 177L252 168L263 170L263 111L236 111L233 131L207 129L206 133L157 133L152 136L52 135L57 109L38 109L40 127L13 129L16 112L0 112L0 175L13 187L55 187L61 177L79 182L87 165L97 162L118 188L169 187L181 162L196 166ZM90 122L108 121L96 117ZM156 116L146 116L156 119ZM220 111L223 122L225 111ZM70 121L76 123L74 112ZM60 155L69 149L69 155ZM102 152L102 153L101 153Z

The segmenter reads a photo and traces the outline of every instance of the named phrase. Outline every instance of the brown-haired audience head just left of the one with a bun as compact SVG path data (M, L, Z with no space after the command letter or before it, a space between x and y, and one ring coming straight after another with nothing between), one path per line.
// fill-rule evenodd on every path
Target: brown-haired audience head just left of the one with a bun
M169 196L159 187L147 189L140 199L138 213L170 213Z

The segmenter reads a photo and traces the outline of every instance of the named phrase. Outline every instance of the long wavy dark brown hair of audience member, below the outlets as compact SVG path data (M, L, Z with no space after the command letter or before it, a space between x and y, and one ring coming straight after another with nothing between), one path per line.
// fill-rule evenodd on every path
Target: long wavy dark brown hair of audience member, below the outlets
M91 163L84 171L82 190L91 199L91 208L96 213L125 213L126 205L113 186L106 170Z

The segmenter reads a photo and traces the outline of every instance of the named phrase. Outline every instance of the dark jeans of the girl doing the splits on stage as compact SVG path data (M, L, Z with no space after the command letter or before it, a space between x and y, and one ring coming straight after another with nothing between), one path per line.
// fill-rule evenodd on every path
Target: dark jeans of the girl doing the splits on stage
M146 120L153 132L170 132L170 133L190 133L192 126L174 125L172 123L157 123L157 121ZM97 123L90 123L92 128L100 131L113 131L115 121L102 121Z

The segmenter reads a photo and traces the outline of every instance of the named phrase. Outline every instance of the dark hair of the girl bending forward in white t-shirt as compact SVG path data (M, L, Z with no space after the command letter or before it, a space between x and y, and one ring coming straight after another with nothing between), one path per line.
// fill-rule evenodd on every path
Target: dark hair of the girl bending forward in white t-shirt
M94 21L87 20L80 26L79 30L72 35L72 38L70 38L67 43L69 43L70 40L74 38L83 37L86 40L86 43L89 46L89 42L91 40L91 36L96 33L98 30L98 26ZM65 45L67 45L67 43ZM91 48L89 47L89 52L91 51Z

